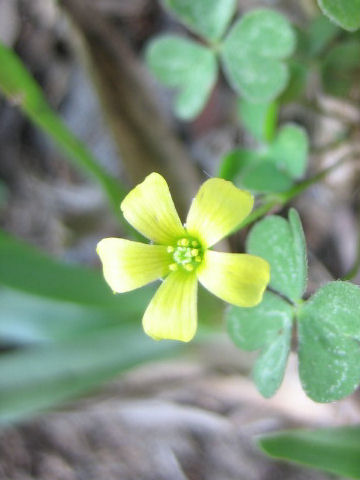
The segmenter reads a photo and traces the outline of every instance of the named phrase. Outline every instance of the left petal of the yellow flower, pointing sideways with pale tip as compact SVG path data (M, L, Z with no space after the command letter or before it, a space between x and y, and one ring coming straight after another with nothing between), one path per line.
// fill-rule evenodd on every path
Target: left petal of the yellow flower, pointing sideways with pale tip
M105 280L113 292L134 290L169 271L169 254L163 245L104 238L96 250L103 264Z

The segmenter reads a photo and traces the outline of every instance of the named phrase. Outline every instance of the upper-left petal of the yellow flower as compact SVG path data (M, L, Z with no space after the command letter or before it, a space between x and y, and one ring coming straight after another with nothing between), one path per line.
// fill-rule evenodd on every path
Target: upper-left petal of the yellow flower
M148 175L125 197L121 210L126 220L145 237L169 244L185 230L176 212L169 187L158 173Z

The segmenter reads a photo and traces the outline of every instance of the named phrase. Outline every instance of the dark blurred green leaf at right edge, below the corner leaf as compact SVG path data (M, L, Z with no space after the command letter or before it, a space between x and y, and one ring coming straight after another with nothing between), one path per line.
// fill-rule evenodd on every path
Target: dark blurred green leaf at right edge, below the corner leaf
M330 50L322 64L322 81L327 93L349 96L351 88L360 79L360 44L348 41Z

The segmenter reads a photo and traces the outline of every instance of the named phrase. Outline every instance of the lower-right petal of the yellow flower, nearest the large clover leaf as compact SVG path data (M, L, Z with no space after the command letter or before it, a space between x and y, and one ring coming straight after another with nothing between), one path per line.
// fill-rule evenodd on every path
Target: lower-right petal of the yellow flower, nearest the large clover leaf
M239 307L254 307L261 302L269 283L270 266L254 255L207 250L198 278L222 300Z

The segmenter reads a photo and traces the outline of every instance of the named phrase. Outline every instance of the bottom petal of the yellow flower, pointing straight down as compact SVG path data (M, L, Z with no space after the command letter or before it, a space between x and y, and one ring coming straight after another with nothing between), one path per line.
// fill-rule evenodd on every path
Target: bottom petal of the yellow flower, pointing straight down
M197 278L173 272L160 285L143 318L145 333L156 340L189 342L197 326Z

